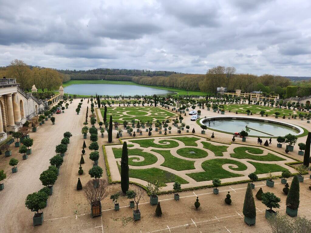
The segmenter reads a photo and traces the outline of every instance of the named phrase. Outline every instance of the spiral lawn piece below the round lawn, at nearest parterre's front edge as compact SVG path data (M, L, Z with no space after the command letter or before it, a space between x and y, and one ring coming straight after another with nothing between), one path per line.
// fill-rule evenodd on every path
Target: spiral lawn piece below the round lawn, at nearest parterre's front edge
M230 177L243 176L242 174L236 174L230 171L226 171L225 169L222 168L222 165L224 164L237 165L238 166L237 168L229 166L229 168L234 171L244 171L247 169L244 163L241 163L241 162L238 162L232 159L216 158L216 159L210 159L210 160L202 162L202 168L205 171L188 173L186 175L190 176L197 182L213 180L214 178L225 179L225 178L230 178Z

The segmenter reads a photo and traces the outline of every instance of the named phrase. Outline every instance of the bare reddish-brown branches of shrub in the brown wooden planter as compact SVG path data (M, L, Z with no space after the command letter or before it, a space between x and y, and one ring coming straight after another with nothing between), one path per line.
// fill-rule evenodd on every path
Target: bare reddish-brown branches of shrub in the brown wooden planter
M97 179L96 182L97 185L94 185L94 180L89 180L83 188L84 195L91 206L100 205L108 186L107 181L104 179Z

